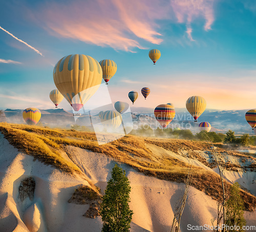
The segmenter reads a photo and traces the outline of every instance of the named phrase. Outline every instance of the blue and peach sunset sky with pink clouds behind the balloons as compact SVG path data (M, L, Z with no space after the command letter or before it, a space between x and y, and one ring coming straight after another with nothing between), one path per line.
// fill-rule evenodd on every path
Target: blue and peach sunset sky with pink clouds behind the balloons
M0 109L54 108L64 56L111 59L113 102L155 108L188 97L208 109L256 108L256 2L251 0L1 1ZM156 65L148 57L159 49ZM103 83L103 82L102 82ZM144 100L140 90L151 89ZM71 110L64 99L60 108Z

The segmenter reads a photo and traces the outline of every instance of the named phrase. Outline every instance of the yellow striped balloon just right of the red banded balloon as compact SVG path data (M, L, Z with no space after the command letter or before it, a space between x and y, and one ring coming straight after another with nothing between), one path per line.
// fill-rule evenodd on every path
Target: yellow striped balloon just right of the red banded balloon
M206 101L200 96L191 96L186 101L187 111L194 117L195 122L206 109Z

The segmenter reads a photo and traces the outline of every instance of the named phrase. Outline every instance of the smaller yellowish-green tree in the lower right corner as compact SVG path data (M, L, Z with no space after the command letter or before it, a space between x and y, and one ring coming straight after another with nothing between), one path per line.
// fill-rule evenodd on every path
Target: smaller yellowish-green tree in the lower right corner
M242 228L246 225L244 219L244 200L240 196L240 185L236 182L230 187L229 197L226 201L226 231L244 231ZM228 229L232 226L240 227L240 230ZM229 226L229 227L228 227Z

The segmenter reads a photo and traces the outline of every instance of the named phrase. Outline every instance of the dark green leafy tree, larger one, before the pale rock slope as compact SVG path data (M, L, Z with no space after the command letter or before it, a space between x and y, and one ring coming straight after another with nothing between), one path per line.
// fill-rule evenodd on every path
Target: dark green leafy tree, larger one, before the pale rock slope
M102 232L128 232L131 228L133 211L129 208L130 182L125 171L117 164L112 169L111 179L102 197L100 216L102 217Z

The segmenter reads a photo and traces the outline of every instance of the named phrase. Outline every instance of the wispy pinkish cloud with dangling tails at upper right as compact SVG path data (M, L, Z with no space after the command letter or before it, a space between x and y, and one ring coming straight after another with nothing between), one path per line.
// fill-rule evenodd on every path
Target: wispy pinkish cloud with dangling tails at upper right
M195 41L191 35L191 22L195 18L205 18L204 30L211 30L211 24L215 19L214 2L216 2L216 0L170 0L178 22L186 23L187 37L191 41Z

